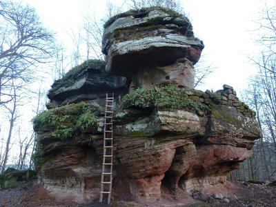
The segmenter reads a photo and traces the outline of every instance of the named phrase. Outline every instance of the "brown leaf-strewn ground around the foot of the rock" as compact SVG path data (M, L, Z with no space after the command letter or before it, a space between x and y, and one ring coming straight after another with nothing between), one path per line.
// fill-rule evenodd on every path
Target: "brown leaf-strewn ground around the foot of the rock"
M243 184L236 183L239 186L237 200L225 201L223 199L213 199L212 201L199 201L193 199L192 204L179 203L175 204L160 204L164 207L174 206L189 206L189 207L203 207L203 206L250 206L250 207L276 207L276 186L259 185L259 184ZM60 207L96 207L108 206L99 203L91 203L86 205L77 204L70 200L59 200L51 197L49 192L43 188L37 181L30 181L26 184L18 186L17 188L10 188L7 190L0 190L0 207L13 206L60 206ZM133 203L119 203L112 206L137 206ZM138 205L139 206L139 205ZM145 205L151 206L151 205Z

